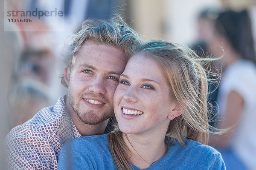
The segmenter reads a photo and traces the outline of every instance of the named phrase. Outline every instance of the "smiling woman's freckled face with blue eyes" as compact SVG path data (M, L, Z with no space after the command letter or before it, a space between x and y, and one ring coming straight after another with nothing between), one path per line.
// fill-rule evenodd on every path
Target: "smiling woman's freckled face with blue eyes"
M123 133L166 133L175 108L161 66L145 54L132 57L114 94L114 112ZM172 116L175 117L175 116Z

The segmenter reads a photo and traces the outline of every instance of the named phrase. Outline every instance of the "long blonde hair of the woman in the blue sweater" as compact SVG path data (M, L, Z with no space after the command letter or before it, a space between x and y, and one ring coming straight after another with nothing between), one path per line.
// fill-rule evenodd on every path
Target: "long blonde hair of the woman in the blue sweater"
M170 97L184 107L184 112L170 121L166 135L183 145L183 139L207 144L208 85L207 75L202 67L203 59L199 59L188 47L157 40L145 42L136 53L151 57L162 65L163 74L169 83ZM117 168L131 170L128 161L131 152L123 141L122 132L118 127L108 135L108 144Z

